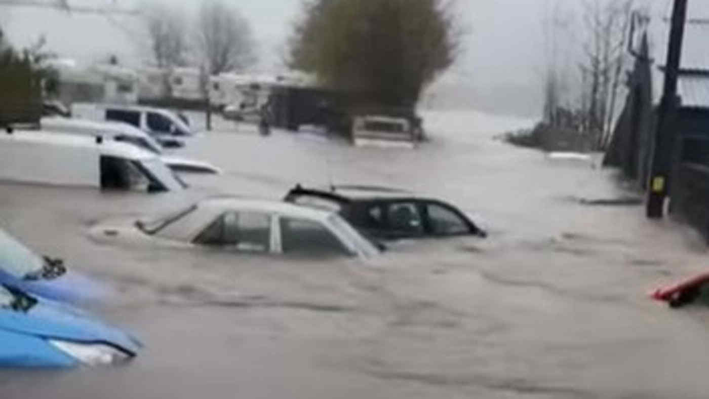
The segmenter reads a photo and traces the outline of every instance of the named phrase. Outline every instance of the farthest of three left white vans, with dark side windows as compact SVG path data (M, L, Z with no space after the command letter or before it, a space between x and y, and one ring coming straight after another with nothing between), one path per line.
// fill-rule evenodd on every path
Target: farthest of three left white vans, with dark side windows
M192 136L184 119L162 108L101 103L72 104L74 118L128 123L155 136Z

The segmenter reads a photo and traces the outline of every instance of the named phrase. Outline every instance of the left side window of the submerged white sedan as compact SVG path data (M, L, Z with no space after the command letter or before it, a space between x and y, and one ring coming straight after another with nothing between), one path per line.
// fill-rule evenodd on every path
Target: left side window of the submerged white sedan
M257 212L225 213L206 227L194 242L233 247L244 252L269 252L271 216Z

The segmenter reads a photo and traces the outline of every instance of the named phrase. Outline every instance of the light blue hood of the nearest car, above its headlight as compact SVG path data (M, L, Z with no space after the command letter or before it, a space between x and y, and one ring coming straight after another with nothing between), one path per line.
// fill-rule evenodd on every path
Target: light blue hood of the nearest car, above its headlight
M0 309L0 330L74 342L105 343L130 354L136 354L143 346L128 333L95 320L82 310L44 298L38 298L38 303L27 313Z

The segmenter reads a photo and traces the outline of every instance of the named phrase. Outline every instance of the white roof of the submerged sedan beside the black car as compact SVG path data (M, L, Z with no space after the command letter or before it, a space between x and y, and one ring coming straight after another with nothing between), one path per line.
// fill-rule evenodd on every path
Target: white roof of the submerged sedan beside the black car
M298 206L292 203L280 202L280 201L268 201L259 200L252 198L238 198L238 197L215 197L206 198L200 201L197 206L199 208L221 210L221 209L247 209L256 210L267 213L278 213L279 215L289 216L292 218L303 218L310 220L318 220L320 222L325 222L325 220L333 214L333 212L327 210L320 210L315 208L308 208L305 206Z

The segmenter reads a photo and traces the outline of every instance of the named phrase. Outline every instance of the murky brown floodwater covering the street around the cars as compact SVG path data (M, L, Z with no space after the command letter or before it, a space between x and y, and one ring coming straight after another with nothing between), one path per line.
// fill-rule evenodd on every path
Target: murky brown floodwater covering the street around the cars
M640 206L585 205L629 195L598 159L494 139L526 120L425 116L432 141L414 151L221 123L184 155L225 174L189 176L184 193L0 185L0 224L111 288L89 305L146 344L118 368L2 371L0 397L705 398L707 310L647 298L704 268L698 237ZM110 247L86 234L116 215L216 193L280 198L298 182L435 194L491 234L399 242L367 262Z

